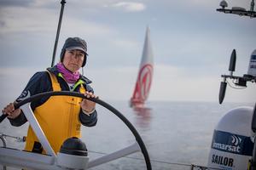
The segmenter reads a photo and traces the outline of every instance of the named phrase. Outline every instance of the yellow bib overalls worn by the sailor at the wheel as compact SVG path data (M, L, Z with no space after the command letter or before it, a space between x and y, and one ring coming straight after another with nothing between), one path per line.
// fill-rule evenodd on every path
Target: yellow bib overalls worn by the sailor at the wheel
M57 78L49 73L53 91L61 91ZM85 93L85 88L80 87L80 93ZM81 98L72 96L52 96L43 105L38 106L34 115L44 131L49 144L57 153L61 144L70 137L80 138L81 122L79 121ZM25 150L32 151L33 145L38 142L32 127L28 127ZM43 150L43 153L45 151Z

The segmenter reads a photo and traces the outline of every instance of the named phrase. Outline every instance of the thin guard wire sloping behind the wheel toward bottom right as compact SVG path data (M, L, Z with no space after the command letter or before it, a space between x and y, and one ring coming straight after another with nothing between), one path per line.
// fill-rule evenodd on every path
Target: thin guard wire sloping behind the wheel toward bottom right
M93 150L88 150L88 152L96 153L96 154L101 154L101 155L108 155L107 153L99 152L99 151L93 151ZM143 159L139 158L139 157L131 157L131 156L124 156L124 157L125 158L129 158L129 159L133 159L133 160L143 161ZM177 166L186 166L186 167L194 166L194 167L200 167L200 168L204 167L204 166L199 166L199 165L195 165L195 164L186 164L186 163L177 163L177 162L169 162L169 161L160 161L160 160L154 160L154 159L150 159L150 161L157 162L157 163L165 163L165 164L168 164L168 165L177 165ZM209 170L210 169L212 169L212 170L222 170L222 169L214 168L214 167L207 167L207 169L209 169Z

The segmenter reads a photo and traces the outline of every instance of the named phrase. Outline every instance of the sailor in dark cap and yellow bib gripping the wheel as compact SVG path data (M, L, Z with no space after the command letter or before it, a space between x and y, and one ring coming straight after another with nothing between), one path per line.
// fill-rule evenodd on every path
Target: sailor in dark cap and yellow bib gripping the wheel
M89 85L91 81L79 73L86 59L86 42L79 37L67 38L61 50L61 61L47 71L34 74L16 102L49 91L74 91L88 98L96 98ZM65 139L80 137L81 124L91 127L97 122L96 103L86 99L71 96L44 97L33 101L31 106L55 153L60 150ZM2 112L9 115L9 122L13 126L18 127L26 122L26 116L20 109L15 110L13 103L6 105ZM45 153L32 127L28 128L25 150Z

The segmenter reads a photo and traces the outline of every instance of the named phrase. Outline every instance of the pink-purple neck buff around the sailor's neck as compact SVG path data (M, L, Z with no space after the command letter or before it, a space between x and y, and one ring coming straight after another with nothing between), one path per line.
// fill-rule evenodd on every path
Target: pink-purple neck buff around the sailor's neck
M57 69L59 72L61 72L66 82L75 83L79 80L79 76L80 76L79 71L75 71L74 73L71 71L68 71L67 68L62 63L57 64Z

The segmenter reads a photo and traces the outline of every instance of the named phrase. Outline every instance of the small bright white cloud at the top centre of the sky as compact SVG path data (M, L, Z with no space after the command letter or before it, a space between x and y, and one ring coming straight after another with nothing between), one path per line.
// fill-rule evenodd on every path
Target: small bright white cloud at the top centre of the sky
M112 5L114 8L122 8L125 12L143 11L146 6L143 3L120 2Z

